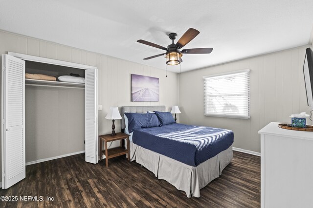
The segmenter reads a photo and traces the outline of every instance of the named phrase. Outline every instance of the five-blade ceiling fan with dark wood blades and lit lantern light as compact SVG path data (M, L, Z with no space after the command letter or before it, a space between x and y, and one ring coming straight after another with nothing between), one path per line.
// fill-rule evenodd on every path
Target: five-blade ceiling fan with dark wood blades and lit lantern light
M179 41L175 44L174 40L177 38L176 33L170 33L168 37L172 40L172 44L168 45L167 48L157 45L152 42L148 42L146 40L137 40L137 42L149 45L155 48L159 48L165 50L164 54L158 54L152 57L146 57L144 60L148 60L155 57L163 56L166 58L167 65L177 65L182 62L182 54L209 54L212 52L213 48L191 48L191 49L183 49L180 51L182 47L184 47L187 43L189 43L193 38L199 35L199 31L193 28L189 28L184 35L179 39Z

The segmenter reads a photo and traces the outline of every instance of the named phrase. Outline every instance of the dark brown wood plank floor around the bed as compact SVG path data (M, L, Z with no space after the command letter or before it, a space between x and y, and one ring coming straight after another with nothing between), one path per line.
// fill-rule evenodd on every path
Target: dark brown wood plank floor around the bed
M125 156L104 163L85 162L78 154L26 166L26 178L0 196L18 196L0 207L260 207L260 157L234 151L222 175L201 189L200 198L187 198L164 180ZM40 196L45 201L21 201ZM47 201L46 197L53 197Z

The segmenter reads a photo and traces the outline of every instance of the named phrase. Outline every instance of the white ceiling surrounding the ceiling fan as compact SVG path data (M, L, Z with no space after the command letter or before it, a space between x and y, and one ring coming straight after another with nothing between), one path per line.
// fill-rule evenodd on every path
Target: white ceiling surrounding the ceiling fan
M168 33L200 34L183 49L181 71L309 43L313 0L0 0L0 29L165 69ZM178 39L176 39L178 40ZM174 72L180 66L168 66Z

